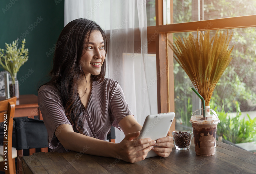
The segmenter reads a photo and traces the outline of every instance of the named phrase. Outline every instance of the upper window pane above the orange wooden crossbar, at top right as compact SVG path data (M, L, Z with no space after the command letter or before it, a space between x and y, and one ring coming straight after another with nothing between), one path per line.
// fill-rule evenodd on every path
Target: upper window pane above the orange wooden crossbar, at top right
M173 0L174 23L219 19L256 14L256 1Z

